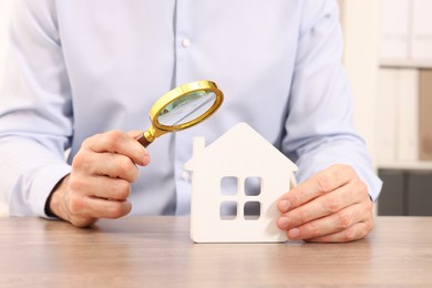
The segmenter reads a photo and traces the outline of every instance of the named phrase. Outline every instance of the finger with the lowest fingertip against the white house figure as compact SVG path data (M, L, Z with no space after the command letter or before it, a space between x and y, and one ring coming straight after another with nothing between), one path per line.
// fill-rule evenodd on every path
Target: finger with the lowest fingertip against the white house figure
M319 218L287 230L289 239L313 239L325 235L337 234L358 223L372 220L372 208L368 204L356 204L330 216ZM347 235L351 236L349 233Z

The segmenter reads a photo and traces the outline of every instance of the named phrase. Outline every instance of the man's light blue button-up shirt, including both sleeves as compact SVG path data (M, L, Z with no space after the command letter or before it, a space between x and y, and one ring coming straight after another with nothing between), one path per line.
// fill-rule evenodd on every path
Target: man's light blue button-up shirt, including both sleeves
M378 197L381 182L352 123L336 1L17 2L0 97L0 199L11 215L45 216L84 138L147 128L152 104L196 80L215 81L225 102L206 122L148 147L132 214L187 214L183 165L193 137L212 143L238 122L296 162L298 182L346 163Z

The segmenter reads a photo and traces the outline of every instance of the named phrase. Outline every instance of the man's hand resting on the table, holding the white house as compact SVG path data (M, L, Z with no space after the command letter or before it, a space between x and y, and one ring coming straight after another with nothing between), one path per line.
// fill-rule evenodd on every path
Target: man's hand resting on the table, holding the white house
M291 240L352 241L372 230L372 206L356 171L338 164L284 195L277 203L277 225Z

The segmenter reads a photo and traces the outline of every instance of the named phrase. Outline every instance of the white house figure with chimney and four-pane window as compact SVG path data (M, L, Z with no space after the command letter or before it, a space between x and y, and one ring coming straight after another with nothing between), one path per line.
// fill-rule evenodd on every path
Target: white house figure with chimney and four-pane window
M294 187L297 166L246 123L205 147L195 137L191 238L195 243L285 241L277 199Z

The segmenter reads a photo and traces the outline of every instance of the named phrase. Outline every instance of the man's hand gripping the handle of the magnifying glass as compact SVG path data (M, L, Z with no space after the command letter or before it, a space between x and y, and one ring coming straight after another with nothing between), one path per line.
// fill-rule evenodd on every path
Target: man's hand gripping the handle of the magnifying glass
M138 175L136 165L150 163L137 135L111 131L86 138L73 158L71 174L51 195L51 213L76 227L127 215L131 183Z

